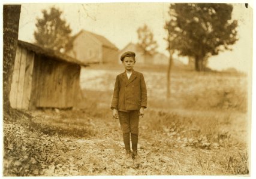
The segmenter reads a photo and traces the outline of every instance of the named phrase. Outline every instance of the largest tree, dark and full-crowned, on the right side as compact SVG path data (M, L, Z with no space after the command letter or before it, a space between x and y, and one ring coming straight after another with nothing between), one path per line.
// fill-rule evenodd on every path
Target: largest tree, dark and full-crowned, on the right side
M204 60L219 51L231 50L237 39L237 21L231 20L230 4L171 4L168 44L179 55L195 60L195 70L204 69Z

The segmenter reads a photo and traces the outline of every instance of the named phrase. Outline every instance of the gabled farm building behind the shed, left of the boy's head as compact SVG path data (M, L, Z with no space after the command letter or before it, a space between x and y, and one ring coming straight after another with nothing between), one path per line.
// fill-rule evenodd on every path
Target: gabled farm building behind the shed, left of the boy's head
M110 63L118 60L118 48L104 36L81 30L73 36L67 54L82 63Z

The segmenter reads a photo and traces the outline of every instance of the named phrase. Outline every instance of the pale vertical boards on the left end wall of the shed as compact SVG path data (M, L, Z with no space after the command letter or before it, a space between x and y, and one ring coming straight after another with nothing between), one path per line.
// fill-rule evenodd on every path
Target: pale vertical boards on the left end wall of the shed
M34 53L18 45L10 91L10 103L14 109L29 108L33 67Z

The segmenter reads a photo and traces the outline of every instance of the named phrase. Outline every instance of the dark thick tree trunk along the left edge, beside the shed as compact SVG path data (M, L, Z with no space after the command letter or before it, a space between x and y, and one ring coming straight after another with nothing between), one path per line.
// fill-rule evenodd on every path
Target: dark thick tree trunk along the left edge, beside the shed
M4 5L4 61L3 61L3 95L4 118L10 115L10 91L13 67L17 49L21 5Z

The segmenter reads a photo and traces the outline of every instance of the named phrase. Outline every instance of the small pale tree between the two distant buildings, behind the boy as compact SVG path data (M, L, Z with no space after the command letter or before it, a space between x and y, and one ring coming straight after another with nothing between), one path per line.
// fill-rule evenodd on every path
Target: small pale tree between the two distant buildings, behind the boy
M158 47L156 41L153 39L153 33L144 24L143 27L137 29L138 33L138 46L143 50L145 55L152 55L155 53L156 48Z

